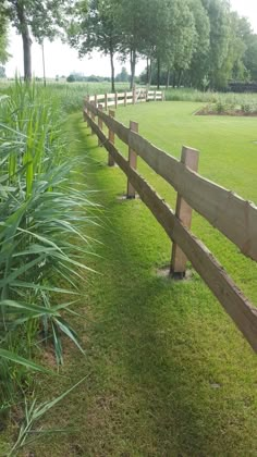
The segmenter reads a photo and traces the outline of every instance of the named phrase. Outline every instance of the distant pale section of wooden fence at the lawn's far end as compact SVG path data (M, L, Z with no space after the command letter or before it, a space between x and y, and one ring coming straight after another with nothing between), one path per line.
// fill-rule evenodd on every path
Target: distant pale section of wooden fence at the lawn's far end
M101 103L105 107L105 110L107 111L109 107L118 108L119 104L126 107L127 104L135 104L144 101L163 101L164 92L161 90L135 88L130 92L125 91L88 96L87 100L89 102L96 103L96 106L98 103Z

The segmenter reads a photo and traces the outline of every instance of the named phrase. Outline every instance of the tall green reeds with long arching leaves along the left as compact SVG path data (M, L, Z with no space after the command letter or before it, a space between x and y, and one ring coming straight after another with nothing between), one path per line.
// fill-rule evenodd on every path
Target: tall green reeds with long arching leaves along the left
M1 412L29 385L27 368L39 369L32 359L40 343L58 365L62 334L83 351L66 316L86 270L81 226L93 206L73 184L58 100L19 79L0 96Z

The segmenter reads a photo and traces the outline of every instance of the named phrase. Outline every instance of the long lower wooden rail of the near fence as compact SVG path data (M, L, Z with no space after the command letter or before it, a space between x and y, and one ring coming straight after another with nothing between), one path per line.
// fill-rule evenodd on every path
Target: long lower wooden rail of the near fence
M130 166L126 159L108 140L89 116L88 123L100 137L108 152L126 174L142 200L150 209L168 236L183 248L183 251L191 260L195 270L200 274L224 310L233 319L253 349L257 351L257 309L237 288L233 280L227 274L206 246L183 226L171 208L137 171Z

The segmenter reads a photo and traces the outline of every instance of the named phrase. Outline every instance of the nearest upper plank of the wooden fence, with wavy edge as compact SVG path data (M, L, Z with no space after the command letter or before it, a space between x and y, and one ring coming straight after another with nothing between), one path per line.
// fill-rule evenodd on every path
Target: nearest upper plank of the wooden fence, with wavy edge
M242 254L257 260L257 207L253 202L194 173L134 132L128 146Z

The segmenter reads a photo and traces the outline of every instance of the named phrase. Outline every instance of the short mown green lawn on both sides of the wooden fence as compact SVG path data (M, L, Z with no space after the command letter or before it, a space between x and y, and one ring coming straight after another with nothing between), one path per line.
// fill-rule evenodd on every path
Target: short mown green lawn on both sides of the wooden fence
M120 108L119 120L180 156L200 150L206 177L257 202L256 119L194 116L199 103L145 103ZM167 235L139 199L121 197L126 180L107 168L107 153L81 120L70 116L77 180L98 193L98 239L82 284L76 319L86 356L66 349L61 379L38 391L48 398L88 374L44 428L76 429L51 435L28 452L36 456L247 456L257 455L257 361L248 344L199 276L173 282L157 274L169 264ZM77 139L79 143L77 143ZM123 148L125 153L126 148ZM171 187L139 161L139 170L174 205ZM256 264L194 214L193 231L257 302ZM27 454L25 454L27 455Z

